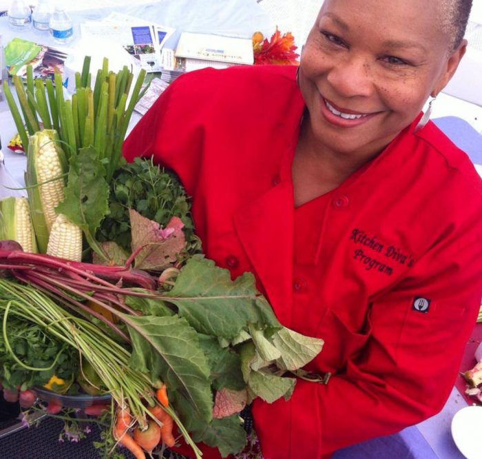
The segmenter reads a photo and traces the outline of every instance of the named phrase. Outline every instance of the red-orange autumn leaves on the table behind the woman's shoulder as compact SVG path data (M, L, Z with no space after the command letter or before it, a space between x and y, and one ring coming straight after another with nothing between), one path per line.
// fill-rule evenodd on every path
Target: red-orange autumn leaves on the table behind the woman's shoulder
M255 32L253 34L253 52L255 65L298 65L297 54L295 50L295 37L291 32L281 34L280 30L276 28L276 32L271 37L271 40L264 39L262 41L262 34Z

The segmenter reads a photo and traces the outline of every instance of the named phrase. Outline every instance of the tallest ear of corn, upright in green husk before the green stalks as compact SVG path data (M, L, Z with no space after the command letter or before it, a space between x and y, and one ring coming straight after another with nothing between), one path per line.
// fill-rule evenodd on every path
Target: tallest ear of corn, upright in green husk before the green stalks
M28 145L25 185L39 251L43 254L47 251L50 230L56 218L55 207L65 197L63 175L67 166L58 140L56 131L43 130L30 136Z

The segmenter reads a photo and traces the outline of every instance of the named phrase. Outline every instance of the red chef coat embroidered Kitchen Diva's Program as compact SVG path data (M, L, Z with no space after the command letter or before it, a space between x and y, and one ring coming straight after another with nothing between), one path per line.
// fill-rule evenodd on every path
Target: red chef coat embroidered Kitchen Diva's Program
M193 196L207 257L253 272L286 327L324 338L291 399L253 405L265 459L320 458L442 407L482 294L481 180L416 121L335 190L295 209L304 110L295 69L182 76L125 142ZM207 456L209 457L209 456Z

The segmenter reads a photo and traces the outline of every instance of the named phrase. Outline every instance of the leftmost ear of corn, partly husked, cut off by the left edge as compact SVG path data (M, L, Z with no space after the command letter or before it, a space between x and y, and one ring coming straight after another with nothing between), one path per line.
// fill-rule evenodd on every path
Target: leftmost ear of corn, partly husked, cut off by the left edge
M36 253L36 241L27 198L0 201L0 241L17 241L24 252Z

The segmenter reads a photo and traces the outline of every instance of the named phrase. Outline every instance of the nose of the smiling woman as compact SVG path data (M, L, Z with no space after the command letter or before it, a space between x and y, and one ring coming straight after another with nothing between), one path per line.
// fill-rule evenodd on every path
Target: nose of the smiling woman
M371 96L374 82L370 65L362 58L339 61L328 72L328 82L344 97Z

